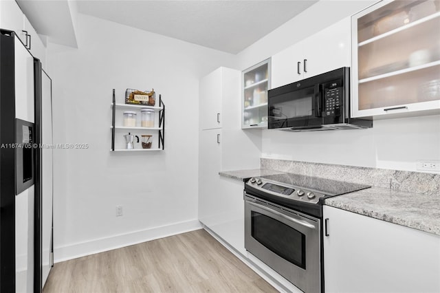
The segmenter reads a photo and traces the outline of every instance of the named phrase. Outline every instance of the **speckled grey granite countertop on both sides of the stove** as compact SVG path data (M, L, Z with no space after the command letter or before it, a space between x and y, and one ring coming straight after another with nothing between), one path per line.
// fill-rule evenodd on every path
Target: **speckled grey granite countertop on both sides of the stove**
M281 173L283 172L267 169L248 169L221 171L219 175L243 181L249 177ZM390 200L384 201L384 198ZM412 193L375 186L325 199L327 206L440 236L440 219L436 214L436 211L440 210L440 202L438 200L435 202L438 205L432 206L430 199L426 199L423 195L415 197ZM414 208L414 206L422 206L422 208Z

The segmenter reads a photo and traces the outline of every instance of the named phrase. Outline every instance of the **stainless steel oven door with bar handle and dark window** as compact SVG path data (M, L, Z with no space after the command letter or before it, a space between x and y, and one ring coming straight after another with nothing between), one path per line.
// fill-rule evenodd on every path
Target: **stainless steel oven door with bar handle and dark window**
M320 292L320 219L245 195L245 248L304 292Z

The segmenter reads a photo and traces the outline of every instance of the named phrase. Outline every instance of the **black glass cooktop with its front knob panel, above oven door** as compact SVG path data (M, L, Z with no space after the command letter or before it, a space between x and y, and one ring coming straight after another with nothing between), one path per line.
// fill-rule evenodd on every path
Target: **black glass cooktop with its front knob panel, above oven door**
M282 173L250 178L245 182L245 193L305 213L320 215L320 206L324 199L369 187L371 186Z

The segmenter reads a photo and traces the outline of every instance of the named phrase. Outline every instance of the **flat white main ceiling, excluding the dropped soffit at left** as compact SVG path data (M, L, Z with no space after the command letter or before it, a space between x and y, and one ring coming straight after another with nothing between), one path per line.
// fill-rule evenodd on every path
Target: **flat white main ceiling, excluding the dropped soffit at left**
M100 19L236 54L316 1L77 1Z

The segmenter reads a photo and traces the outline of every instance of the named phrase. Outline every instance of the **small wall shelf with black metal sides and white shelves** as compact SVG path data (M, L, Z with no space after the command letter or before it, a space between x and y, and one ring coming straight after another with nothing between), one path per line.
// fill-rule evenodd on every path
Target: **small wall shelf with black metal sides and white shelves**
M113 89L113 102L111 103L112 117L111 117L111 150L110 151L163 151L165 149L165 104L162 100L162 96L159 95L159 107L147 106L147 105L127 105L117 104L115 99L115 89ZM141 109L148 108L159 113L159 127L124 127L122 125L115 125L116 109L126 109L132 111L140 111ZM151 131L157 131L159 139L157 142L157 148L152 149L115 149L115 132L116 130L127 131L140 131L142 133L148 133Z

